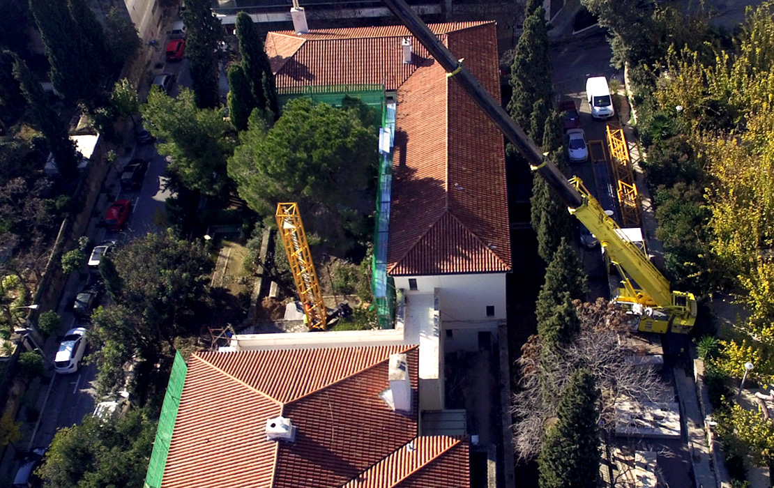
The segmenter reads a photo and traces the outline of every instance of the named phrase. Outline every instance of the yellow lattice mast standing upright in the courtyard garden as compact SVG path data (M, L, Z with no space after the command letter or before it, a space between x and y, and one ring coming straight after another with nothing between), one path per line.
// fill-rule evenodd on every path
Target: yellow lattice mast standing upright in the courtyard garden
M320 282L317 282L317 273L314 271L312 253L307 244L307 234L303 231L298 204L277 203L275 217L279 235L283 237L288 254L293 281L296 282L298 296L303 303L303 312L307 316L307 326L310 329L325 329L328 313L323 294L320 292Z

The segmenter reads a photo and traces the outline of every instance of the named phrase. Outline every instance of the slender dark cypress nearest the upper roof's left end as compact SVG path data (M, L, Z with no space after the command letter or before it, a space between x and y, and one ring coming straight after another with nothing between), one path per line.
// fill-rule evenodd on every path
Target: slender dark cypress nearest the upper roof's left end
M236 34L239 41L242 68L245 70L252 95L255 97L255 106L267 115L271 114L272 117L276 117L279 114L279 105L269 56L266 56L258 28L245 12L237 14ZM270 121L273 121L273 118Z

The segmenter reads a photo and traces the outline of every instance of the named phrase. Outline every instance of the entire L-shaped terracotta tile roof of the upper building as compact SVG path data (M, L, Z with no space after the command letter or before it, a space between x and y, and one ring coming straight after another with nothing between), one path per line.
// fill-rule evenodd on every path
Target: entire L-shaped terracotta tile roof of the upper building
M431 26L499 100L495 22ZM396 90L389 224L390 275L511 269L503 138L464 90L403 26L270 32L277 87L380 84ZM303 39L303 43L299 43Z

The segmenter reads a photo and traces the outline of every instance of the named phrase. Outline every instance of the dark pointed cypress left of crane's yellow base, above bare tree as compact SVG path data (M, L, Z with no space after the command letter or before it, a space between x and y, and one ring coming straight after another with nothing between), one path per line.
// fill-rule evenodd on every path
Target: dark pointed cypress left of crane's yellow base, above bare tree
M536 315L538 327L550 319L557 305L563 303L563 293L570 300L581 300L586 295L586 276L580 268L580 262L570 244L560 241L553 259L546 268L546 278L537 296Z

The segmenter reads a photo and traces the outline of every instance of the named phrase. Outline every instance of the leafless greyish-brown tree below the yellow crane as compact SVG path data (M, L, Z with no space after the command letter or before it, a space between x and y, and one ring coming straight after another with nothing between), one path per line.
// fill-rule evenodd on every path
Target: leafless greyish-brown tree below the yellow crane
M598 299L574 302L580 334L560 350L543 347L539 336L530 336L519 359L520 390L513 396L512 425L515 450L520 459L537 455L547 425L556 417L561 392L573 372L590 370L601 391L601 430L615 430L615 402L625 399L659 401L663 387L651 367L632 363L635 350L627 340L625 314Z

